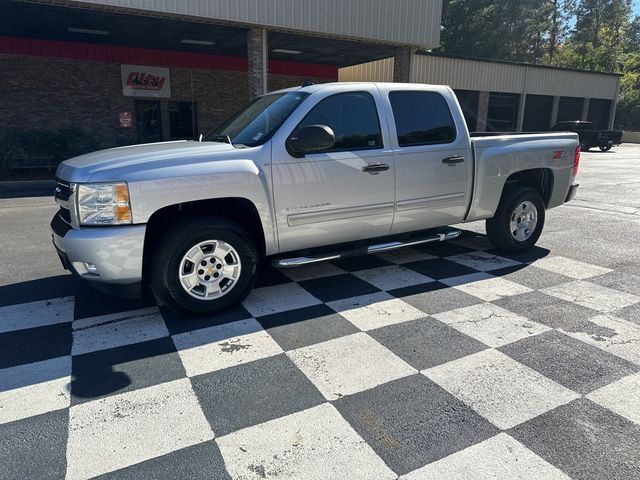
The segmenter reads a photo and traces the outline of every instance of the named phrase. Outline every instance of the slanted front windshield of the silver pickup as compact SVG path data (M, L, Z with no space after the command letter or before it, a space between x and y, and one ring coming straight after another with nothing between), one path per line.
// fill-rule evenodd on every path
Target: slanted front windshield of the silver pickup
M305 92L285 92L258 97L208 133L204 141L230 141L236 147L262 145L308 96Z

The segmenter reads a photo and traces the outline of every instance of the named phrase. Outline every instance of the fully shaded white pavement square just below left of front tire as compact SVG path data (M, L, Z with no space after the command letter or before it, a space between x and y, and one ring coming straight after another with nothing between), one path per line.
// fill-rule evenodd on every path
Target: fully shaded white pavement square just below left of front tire
M84 318L73 322L71 353L106 350L169 335L157 307Z

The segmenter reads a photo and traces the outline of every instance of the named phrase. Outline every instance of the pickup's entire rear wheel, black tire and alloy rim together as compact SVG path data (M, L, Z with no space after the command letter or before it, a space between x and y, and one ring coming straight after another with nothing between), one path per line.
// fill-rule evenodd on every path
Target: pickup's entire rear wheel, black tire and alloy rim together
M514 187L505 191L496 214L487 220L487 237L497 250L524 252L540 238L544 220L540 193L530 187Z

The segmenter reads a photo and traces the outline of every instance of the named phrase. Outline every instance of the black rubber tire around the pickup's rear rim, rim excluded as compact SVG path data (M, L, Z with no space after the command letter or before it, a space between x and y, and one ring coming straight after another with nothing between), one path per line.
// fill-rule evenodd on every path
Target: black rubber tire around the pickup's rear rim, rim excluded
M538 222L533 234L526 240L519 241L512 235L510 223L516 207L525 201L533 203L536 207ZM540 193L530 187L511 187L502 194L496 214L486 222L487 237L497 250L508 253L524 252L533 247L540 238L544 221L545 206Z

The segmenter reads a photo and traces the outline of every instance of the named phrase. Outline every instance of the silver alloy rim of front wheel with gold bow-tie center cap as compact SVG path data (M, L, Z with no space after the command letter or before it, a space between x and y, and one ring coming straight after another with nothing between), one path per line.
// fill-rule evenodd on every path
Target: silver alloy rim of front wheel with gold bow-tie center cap
M180 261L180 285L198 300L215 300L231 291L240 278L240 255L221 240L194 245Z

